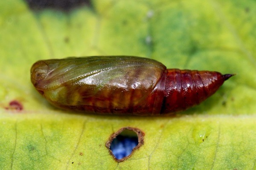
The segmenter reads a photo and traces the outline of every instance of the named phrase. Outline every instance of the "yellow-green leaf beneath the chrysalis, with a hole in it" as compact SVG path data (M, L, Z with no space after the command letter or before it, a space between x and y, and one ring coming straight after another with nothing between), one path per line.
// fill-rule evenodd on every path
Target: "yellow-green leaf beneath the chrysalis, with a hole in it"
M22 0L0 1L0 169L254 169L256 2L92 4L32 11ZM201 105L166 117L61 111L30 82L39 59L91 55L236 76ZM145 133L144 144L117 163L105 143L127 126Z

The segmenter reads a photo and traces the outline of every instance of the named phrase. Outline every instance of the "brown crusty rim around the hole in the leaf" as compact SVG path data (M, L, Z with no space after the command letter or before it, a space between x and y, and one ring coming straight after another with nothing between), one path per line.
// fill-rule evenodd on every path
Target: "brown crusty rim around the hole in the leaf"
M131 152L130 155L125 156L125 157L122 158L122 159L116 159L116 157L113 155L113 153L112 153L112 151L111 151L111 149L110 149L111 143L113 142L113 139L115 139L116 136L118 136L118 135L119 135L120 133L122 133L122 131L124 131L124 130L131 130L131 131L134 131L134 132L137 134L137 137L138 137L138 144L137 144L136 147L134 147L134 149L132 150L132 152ZM111 154L111 156L113 156L113 159L115 159L117 162L121 162L121 161L124 161L124 160L130 158L131 155L134 153L134 151L137 150L137 149L139 149L140 146L143 145L143 143L144 143L144 139L143 139L143 138L144 138L144 135L145 135L145 133L144 133L142 130L138 129L138 128L135 128L135 127L123 127L123 128L121 128L121 129L117 130L115 133L113 133L113 134L110 136L110 138L109 138L108 141L106 142L106 147L108 148L109 153Z

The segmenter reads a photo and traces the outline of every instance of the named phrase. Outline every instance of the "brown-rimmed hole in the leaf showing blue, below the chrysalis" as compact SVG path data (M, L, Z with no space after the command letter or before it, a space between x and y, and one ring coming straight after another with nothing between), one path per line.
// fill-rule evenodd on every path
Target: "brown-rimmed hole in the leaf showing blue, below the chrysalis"
M134 127L123 127L110 136L106 143L113 158L120 162L128 159L143 144L144 133Z

